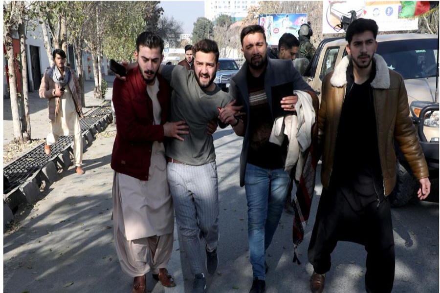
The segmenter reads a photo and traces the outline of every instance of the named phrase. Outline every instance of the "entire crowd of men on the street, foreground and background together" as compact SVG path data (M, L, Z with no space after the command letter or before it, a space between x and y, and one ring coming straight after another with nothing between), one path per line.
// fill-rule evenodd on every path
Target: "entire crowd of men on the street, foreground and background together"
M265 292L266 250L309 155L322 159L324 188L308 248L311 292L323 292L339 240L365 246L366 292L392 291L395 252L387 196L396 184L396 154L389 135L420 182L420 200L428 196L430 182L402 77L375 54L377 32L372 20L350 24L349 54L324 78L320 103L293 66L303 50L291 34L282 36L278 56L269 58L263 27L244 27L245 62L228 93L214 84L216 42L187 45L185 60L162 65L162 38L152 32L137 37L136 63L115 79L112 96L118 117L111 157L114 239L121 268L133 277L132 293L146 291L150 271L163 286L176 286L166 269L175 218L194 276L192 292L206 292L205 272L216 272L217 251L225 249L218 246L221 214L212 137L217 123L243 137L240 186L248 207L250 293ZM300 36L311 34L309 25L301 27ZM60 135L75 136L74 148L82 151L82 141L76 142L82 117L77 79L64 66L62 50L53 58L40 87L51 120L44 151L49 154ZM354 119L364 121L362 129L352 128ZM317 151L309 152L312 147ZM76 172L82 174L82 152L74 153Z

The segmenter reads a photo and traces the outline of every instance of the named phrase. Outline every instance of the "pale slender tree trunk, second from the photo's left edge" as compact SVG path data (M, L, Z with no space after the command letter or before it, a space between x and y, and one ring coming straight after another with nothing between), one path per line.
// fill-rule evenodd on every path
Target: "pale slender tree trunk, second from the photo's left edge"
M22 20L24 22L24 20ZM19 23L18 33L20 37L20 57L22 59L22 132L24 141L31 139L31 126L29 116L29 90L27 80L27 54L26 54L26 31L24 23Z

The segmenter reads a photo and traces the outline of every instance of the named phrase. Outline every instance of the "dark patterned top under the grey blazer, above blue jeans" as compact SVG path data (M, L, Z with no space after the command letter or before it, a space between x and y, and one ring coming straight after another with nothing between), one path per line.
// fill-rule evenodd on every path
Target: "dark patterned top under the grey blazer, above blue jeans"
M265 71L259 77L253 77L249 69L247 85L249 90L249 150L247 163L266 168L284 167L281 146L269 142L273 120L264 91Z

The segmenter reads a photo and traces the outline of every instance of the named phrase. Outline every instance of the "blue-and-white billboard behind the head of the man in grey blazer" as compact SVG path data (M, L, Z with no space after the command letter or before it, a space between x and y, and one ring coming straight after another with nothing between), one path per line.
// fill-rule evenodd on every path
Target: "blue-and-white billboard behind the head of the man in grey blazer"
M301 24L307 23L307 13L261 14L258 23L264 27L267 44L278 46L284 33L298 37Z

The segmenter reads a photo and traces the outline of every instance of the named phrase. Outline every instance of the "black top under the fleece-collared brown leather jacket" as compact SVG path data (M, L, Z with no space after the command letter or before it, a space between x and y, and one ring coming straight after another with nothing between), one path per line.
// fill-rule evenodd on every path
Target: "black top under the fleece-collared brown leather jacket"
M373 194L380 174L372 78L348 84L336 138L333 178L361 194Z

